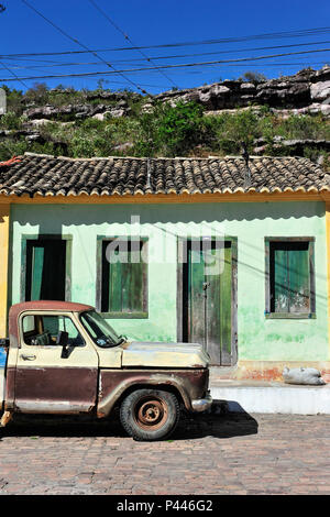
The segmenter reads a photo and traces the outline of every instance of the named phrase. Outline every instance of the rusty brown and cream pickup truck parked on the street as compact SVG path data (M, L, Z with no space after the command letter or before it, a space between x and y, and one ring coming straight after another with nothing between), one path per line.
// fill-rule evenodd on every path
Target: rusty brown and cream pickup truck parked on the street
M0 426L15 413L106 418L119 408L131 437L161 440L183 407L204 411L212 404L209 359L200 344L118 336L91 306L16 304L0 346Z

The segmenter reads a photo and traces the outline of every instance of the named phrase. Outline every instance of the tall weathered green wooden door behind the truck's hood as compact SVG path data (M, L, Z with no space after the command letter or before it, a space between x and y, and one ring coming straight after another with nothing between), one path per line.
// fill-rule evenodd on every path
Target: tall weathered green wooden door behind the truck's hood
M230 242L187 244L184 339L204 344L215 365L231 365L232 261Z

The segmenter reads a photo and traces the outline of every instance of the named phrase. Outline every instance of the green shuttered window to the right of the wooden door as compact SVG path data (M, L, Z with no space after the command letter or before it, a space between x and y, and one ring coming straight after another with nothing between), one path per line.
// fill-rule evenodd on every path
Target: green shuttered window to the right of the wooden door
M266 316L315 317L314 239L267 239L266 279Z

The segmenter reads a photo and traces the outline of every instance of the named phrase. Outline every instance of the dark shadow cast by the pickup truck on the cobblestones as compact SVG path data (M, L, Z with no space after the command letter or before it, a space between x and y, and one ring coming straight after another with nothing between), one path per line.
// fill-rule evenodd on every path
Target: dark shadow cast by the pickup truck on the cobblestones
M226 403L215 400L202 414L183 411L172 440L193 440L205 437L232 438L257 433L257 422L248 413L229 413ZM90 420L84 416L15 415L0 430L4 437L117 437L128 438L121 427L119 413L109 420Z

